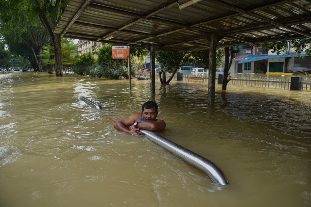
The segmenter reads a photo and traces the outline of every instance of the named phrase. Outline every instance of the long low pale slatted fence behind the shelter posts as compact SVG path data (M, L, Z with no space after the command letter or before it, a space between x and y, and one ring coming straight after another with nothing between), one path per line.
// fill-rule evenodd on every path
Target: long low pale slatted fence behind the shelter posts
M170 76L171 74L167 74L166 77L168 78ZM150 75L148 75L147 78L150 78ZM155 74L155 80L159 79L160 79L159 75ZM173 80L177 80L176 74L173 77ZM208 76L183 74L183 81L208 83ZM216 84L217 83L218 83L218 76L216 76ZM290 90L291 79L231 77L231 80L229 81L228 85ZM301 82L301 85L302 91L311 91L311 80L305 79L303 80L303 82Z

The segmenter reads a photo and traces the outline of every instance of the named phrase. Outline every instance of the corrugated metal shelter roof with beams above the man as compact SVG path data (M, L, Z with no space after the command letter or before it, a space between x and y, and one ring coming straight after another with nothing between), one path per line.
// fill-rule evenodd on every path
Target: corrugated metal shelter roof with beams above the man
M208 33L218 47L258 45L311 38L311 0L70 0L54 32L176 52L207 49Z

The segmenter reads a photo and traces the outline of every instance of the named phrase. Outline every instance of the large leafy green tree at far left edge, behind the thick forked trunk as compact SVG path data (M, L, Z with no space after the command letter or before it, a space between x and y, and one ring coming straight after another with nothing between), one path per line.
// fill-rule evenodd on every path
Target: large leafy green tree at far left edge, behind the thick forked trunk
M33 16L24 0L0 0L0 32L6 44L17 56L27 57L33 68L42 72L42 58L38 56L49 37L40 20Z

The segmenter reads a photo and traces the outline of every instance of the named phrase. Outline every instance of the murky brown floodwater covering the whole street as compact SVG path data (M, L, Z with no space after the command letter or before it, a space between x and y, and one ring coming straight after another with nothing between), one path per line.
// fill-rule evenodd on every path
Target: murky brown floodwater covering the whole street
M99 103L98 110L80 100ZM159 105L161 136L215 162L221 186L109 120ZM0 73L1 207L311 206L311 92Z

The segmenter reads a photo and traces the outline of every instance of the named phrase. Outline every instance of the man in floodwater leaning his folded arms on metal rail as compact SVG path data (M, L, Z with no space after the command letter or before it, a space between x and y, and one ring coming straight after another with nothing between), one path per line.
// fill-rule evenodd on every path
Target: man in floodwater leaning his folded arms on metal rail
M135 113L117 121L114 127L118 131L125 131L129 134L137 134L139 128L148 129L151 131L165 130L165 122L156 119L157 104L154 101L147 101L141 107L141 113Z

